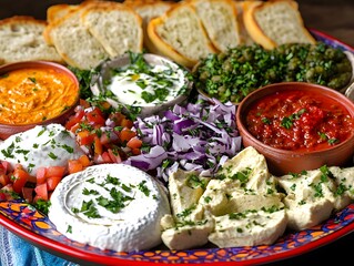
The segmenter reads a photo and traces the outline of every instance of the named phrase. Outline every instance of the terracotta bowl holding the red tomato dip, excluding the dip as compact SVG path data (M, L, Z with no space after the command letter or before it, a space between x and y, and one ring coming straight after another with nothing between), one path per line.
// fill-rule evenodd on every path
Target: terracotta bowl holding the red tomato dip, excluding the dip
M249 94L237 106L236 124L242 136L244 146L253 146L262 153L270 168L274 175L284 175L289 173L300 173L301 171L315 170L323 165L327 166L345 166L353 163L354 155L354 129L348 139L336 144L331 145L324 150L283 150L264 144L255 136L253 136L246 125L246 114L254 102L265 96L275 94L286 90L300 90L303 92L315 92L341 103L354 117L354 103L342 93L321 85L304 83L304 82L284 82L275 83L261 88ZM353 125L354 126L354 125Z

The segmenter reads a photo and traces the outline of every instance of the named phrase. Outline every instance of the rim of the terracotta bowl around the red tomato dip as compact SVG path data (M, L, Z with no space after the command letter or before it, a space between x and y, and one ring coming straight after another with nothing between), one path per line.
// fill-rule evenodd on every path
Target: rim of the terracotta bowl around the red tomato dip
M236 110L236 124L237 124L237 131L241 135L241 130L240 127L242 126L243 129L243 134L246 135L249 139L252 139L252 142L256 143L256 145L259 145L261 149L267 150L270 153L277 153L277 154L282 154L282 155L295 155L295 156L303 156L303 155L320 155L324 152L331 152L334 150L340 150L343 149L345 145L347 145L348 142L353 142L354 141L354 129L353 132L351 134L350 137L347 137L345 141L343 141L342 143L334 145L332 147L328 149L323 149L323 150L316 150L316 151L296 151L296 150L282 150L282 149L277 149L277 147L273 147L271 145L266 145L263 142L261 142L260 140L257 140L256 137L254 137L250 131L246 129L245 124L244 124L244 119L245 115L244 112L247 111L247 108L250 106L250 104L254 103L254 101L261 99L253 99L254 95L257 95L259 93L263 92L263 91L270 91L269 93L266 93L265 95L271 95L276 93L276 89L281 89L280 91L284 91L286 89L286 86L293 86L293 90L309 90L305 88L311 88L313 90L317 90L318 92L326 92L333 95L332 99L334 99L335 101L337 101L342 106L344 106L351 114L352 119L354 120L354 102L351 101L351 99L348 99L347 96L345 96L343 93L331 89L328 86L324 86L324 85L320 85L320 84L314 84L314 83L309 83L309 82L300 82L300 81L295 81L295 82L279 82L279 83L272 83L272 84L267 84L265 86L262 86L253 92L251 92L247 96L245 96L240 104L237 105L237 110ZM274 91L273 91L274 90ZM264 96L264 95L263 95ZM252 101L251 101L252 100ZM340 101L338 101L340 100ZM251 102L250 102L251 101ZM246 105L247 104L247 105ZM350 106L350 108L347 108ZM243 137L242 137L243 139Z

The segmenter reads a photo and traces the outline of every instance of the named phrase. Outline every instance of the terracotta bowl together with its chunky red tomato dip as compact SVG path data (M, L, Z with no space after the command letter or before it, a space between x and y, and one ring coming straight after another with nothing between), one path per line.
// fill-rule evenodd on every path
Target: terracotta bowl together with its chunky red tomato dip
M299 95L309 104L300 105ZM271 173L280 176L353 164L353 117L354 103L342 93L305 82L284 82L249 94L237 106L236 124L243 145L262 153Z

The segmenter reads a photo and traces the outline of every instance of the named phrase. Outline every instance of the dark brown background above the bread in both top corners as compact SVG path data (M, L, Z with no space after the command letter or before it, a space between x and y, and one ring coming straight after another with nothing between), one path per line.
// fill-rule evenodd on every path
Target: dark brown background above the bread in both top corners
M0 19L14 14L45 19L48 7L80 0L0 0ZM354 47L354 0L297 0L305 25Z

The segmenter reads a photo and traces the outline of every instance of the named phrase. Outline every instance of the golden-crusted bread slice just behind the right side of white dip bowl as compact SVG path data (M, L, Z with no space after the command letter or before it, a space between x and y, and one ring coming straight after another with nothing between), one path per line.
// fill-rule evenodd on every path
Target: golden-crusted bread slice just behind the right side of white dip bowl
M148 24L148 34L162 55L186 68L193 68L200 59L216 52L195 10L185 2L152 19Z

